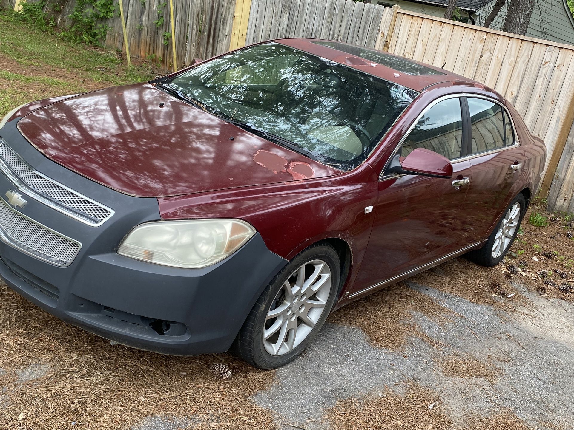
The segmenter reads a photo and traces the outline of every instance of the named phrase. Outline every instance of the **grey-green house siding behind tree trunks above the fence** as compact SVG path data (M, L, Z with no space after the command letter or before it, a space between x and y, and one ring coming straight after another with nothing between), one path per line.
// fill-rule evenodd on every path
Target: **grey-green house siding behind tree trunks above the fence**
M478 15L476 18L477 25L484 24L486 17L494 7L494 3L495 1L493 0L476 11ZM507 11L508 2L492 21L491 29L502 30ZM535 2L526 36L574 45L574 26L568 14L569 11L566 9L563 0Z

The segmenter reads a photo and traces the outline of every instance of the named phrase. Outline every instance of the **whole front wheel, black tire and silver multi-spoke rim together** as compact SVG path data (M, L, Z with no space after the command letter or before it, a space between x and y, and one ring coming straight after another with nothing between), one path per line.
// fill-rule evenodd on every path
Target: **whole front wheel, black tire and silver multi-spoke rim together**
M335 249L327 244L305 249L263 291L239 331L234 352L259 369L295 359L325 323L339 279Z

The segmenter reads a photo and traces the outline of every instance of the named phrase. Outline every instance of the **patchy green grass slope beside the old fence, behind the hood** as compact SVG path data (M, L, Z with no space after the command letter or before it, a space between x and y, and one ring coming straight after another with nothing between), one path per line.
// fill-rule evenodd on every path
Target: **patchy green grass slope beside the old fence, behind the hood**
M0 118L26 101L150 80L149 65L129 69L113 50L77 45L0 13ZM16 70L17 69L17 70Z

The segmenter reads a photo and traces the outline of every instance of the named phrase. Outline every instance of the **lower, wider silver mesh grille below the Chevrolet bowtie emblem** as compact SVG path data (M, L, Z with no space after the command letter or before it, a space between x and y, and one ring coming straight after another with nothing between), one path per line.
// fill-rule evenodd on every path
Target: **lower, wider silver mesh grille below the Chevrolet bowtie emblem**
M0 199L0 239L48 263L67 266L82 244L10 208Z

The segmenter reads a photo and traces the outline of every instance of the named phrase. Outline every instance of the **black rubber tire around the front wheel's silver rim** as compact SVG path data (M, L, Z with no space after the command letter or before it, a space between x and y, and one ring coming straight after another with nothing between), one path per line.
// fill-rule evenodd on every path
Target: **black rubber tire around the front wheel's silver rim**
M297 268L309 261L320 259L327 263L331 271L331 289L323 313L320 315L315 326L307 337L296 347L283 355L272 355L267 352L263 345L263 330L267 312L274 303L278 292L283 284ZM265 291L261 294L249 316L243 323L234 345L230 350L233 354L259 369L276 369L286 365L297 358L302 351L313 341L323 327L335 299L339 294L341 265L339 255L331 245L316 244L299 253L273 278Z

